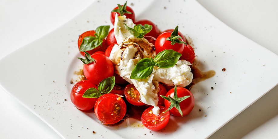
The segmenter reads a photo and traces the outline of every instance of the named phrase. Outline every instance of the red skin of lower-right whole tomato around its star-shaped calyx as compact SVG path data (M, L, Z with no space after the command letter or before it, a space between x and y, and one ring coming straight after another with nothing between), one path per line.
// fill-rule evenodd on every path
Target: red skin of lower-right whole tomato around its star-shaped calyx
M172 108L171 110L169 110L169 112L172 115L181 117L181 116L188 115L192 111L192 109L194 108L194 103L195 103L194 96L188 89L185 89L182 87L177 87L178 98L187 96L187 95L190 95L190 97L183 100L182 102L180 102L180 108L182 110L182 115L178 112L178 110L175 107ZM165 96L166 97L170 96L173 98L174 97L174 88L169 90ZM164 100L164 105L166 108L169 108L170 104L171 103L168 100L166 100L166 99Z

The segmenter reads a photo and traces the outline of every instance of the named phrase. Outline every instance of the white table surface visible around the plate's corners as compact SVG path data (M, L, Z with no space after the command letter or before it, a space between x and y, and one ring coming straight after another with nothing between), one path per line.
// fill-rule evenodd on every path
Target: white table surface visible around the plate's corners
M198 2L240 34L278 54L278 1ZM91 3L90 0L1 0L0 59L62 26ZM278 86L210 138L278 138L277 98ZM61 138L2 88L0 106L0 138Z

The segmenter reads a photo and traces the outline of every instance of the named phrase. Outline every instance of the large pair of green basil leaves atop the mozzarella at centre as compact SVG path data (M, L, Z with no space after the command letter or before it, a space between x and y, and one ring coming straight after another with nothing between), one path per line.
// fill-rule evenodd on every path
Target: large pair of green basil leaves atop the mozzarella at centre
M134 67L130 79L145 79L152 74L153 67L169 68L175 66L182 54L174 50L163 50L154 59L143 58Z

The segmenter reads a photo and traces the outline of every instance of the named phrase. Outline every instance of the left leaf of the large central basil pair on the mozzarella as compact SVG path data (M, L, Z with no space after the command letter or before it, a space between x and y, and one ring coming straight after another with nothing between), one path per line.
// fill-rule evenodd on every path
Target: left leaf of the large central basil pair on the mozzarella
M130 79L145 79L152 74L154 61L149 58L141 59L131 72Z

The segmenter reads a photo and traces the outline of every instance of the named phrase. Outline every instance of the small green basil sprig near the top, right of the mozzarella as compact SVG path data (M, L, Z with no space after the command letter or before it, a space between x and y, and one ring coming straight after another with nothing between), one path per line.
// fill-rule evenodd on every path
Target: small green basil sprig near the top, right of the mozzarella
M128 27L125 23L124 23L124 25L125 25L126 30L128 30L131 35L133 35L137 38L143 38L144 35L146 35L147 33L149 33L152 30L152 25L149 25L149 24L145 24L145 25L138 24L138 25L135 25L133 28Z

